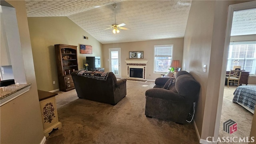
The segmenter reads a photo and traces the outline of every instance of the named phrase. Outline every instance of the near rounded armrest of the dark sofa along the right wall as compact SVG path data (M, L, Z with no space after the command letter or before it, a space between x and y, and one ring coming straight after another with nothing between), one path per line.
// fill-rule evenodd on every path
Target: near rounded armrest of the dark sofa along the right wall
M178 93L172 92L170 90L166 90L163 88L151 88L146 90L145 93L146 97L151 97L151 98L160 98L164 100L171 100L171 101L184 101L184 97L181 96Z

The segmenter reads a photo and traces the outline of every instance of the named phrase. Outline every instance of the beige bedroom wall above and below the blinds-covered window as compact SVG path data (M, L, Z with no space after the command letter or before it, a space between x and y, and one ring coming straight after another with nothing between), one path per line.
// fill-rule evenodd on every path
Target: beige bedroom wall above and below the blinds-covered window
M230 42L256 40L256 34L246 36L231 36ZM248 84L256 84L256 76L249 76Z

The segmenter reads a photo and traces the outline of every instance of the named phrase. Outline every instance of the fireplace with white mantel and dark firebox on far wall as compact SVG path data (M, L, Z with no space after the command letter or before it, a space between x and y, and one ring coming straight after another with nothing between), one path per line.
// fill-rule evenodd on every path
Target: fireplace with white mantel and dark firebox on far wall
M147 60L126 60L127 78L146 80Z

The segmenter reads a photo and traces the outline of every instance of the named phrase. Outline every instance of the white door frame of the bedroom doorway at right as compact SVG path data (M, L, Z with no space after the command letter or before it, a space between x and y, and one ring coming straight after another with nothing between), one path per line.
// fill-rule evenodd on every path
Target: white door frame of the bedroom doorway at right
M255 1L251 2L244 2L239 4L232 4L228 6L228 21L226 27L226 36L225 36L225 44L224 44L224 54L223 54L223 61L222 61L222 73L221 73L221 82L224 84L225 76L226 76L226 64L228 58L228 46L230 44L230 35L231 35L231 28L232 28L232 20L234 11L238 10L247 10L251 8L256 8ZM217 106L217 113L216 113L216 120L214 126L214 141L217 140L219 135L219 128L220 128L220 117L222 111L222 102L223 102L223 94L224 94L224 86L220 86L219 97L218 97L218 106Z

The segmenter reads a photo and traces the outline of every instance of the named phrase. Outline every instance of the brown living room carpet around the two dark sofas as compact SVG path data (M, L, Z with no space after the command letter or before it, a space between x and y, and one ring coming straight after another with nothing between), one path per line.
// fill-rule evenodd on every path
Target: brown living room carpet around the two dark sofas
M146 118L145 91L154 82L127 81L127 95L116 106L78 99L75 90L56 96L60 130L46 144L198 144L192 123Z

